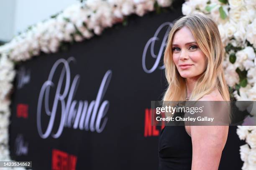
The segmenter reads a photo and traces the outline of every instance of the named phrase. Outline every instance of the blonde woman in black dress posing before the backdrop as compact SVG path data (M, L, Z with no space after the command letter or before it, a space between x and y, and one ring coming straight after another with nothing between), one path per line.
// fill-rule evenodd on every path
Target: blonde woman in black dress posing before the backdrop
M177 20L169 32L164 101L230 101L223 75L224 48L206 15ZM165 126L159 136L159 170L218 170L228 126Z

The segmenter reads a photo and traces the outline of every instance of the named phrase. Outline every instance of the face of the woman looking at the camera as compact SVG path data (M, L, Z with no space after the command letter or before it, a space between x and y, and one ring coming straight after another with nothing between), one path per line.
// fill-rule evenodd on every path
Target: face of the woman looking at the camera
M205 71L207 58L186 26L177 30L172 42L172 57L184 78L197 78Z

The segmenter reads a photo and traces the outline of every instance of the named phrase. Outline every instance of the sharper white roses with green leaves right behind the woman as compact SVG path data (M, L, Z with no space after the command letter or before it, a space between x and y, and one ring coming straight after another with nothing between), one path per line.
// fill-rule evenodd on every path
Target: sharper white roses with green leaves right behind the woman
M235 89L236 100L256 100L256 0L189 0L182 13L204 13L215 20L226 50L223 66L228 86ZM247 143L240 147L242 170L256 169L256 126L246 126L256 122L256 110L251 114L237 129Z

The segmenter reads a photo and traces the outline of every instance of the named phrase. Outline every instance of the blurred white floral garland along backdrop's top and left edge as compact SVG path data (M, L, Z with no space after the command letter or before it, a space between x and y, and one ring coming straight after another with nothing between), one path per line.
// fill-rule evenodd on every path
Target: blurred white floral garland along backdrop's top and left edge
M29 27L9 43L0 46L0 161L10 161L8 125L10 91L15 77L14 62L25 61L40 52L57 52L65 43L100 35L116 23L127 25L128 15L172 5L172 0L86 0L67 7L49 20ZM15 169L15 168L13 168Z

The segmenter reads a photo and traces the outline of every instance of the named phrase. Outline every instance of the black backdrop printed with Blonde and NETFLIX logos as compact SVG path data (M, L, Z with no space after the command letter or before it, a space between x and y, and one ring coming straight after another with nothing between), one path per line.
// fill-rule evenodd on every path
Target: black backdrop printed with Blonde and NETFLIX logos
M161 24L172 22L181 13L181 2L174 5L175 10L156 15L148 13L144 17L131 16L128 25L117 25L106 29L101 36L90 40L74 43L67 51L54 54L41 54L38 57L18 65L18 76L15 79L15 91L12 95L11 124L10 124L10 151L14 160L31 160L33 170L60 169L76 158L74 163L77 170L156 170L158 167L158 135L161 127L148 130L145 123L146 109L150 109L151 100L161 100L166 88L162 57L159 67L151 73L146 73L142 67L143 51L148 40L154 36ZM158 55L167 26L160 30L158 41L154 46L154 54ZM149 70L155 63L152 57L151 46L146 49L146 67ZM161 56L161 54L160 54ZM105 94L102 93L100 106L105 107L106 114L100 122L102 128L106 119L105 128L98 133L95 125L87 130L64 127L61 135L54 138L61 120L61 102L57 103L56 117L53 129L49 135L42 138L38 133L38 100L40 91L56 61L67 60L70 69L70 82L67 96L62 100L63 106L68 106L68 96L71 94L72 82L77 81L72 101L90 103L96 100L100 84L105 77ZM156 63L157 64L157 63ZM49 87L49 108L53 108L55 93L64 64L56 67L52 77L54 86ZM67 65L66 65L67 66ZM77 79L78 78L78 79ZM64 91L67 77L61 85L61 94ZM51 81L49 81L51 82ZM107 85L109 83L109 85ZM46 90L47 91L47 90ZM47 93L47 92L46 92ZM45 98L41 96L41 129L46 132L50 116L46 115ZM58 101L58 100L57 100ZM91 104L93 105L93 104ZM78 109L78 105L74 109ZM69 106L69 108L72 106ZM81 107L82 108L82 107ZM103 108L103 106L102 106ZM98 111L96 110L96 111ZM73 111L73 114L75 111ZM99 115L99 113L97 112ZM68 116L67 116L68 117ZM75 122L72 120L72 126ZM93 124L93 123L92 123ZM96 123L95 123L96 124ZM90 123L87 123L90 125ZM220 169L241 169L242 161L239 155L239 146L244 143L236 135L236 127L230 127L228 141L223 151ZM56 152L58 150L61 154ZM56 156L57 155L57 156ZM70 169L70 168L68 168Z

